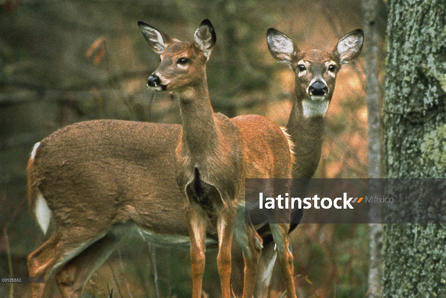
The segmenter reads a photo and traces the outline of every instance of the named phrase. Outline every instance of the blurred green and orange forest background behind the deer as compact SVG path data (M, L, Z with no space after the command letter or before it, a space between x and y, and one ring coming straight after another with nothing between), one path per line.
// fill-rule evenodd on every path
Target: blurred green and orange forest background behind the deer
M385 4L378 51L384 60ZM53 131L89 119L179 123L178 102L153 93L147 77L159 57L137 21L192 40L201 20L215 27L207 66L215 111L264 115L284 125L294 75L270 56L274 27L303 50L331 50L363 28L360 0L0 0L0 276L27 276L26 256L44 235L31 218L25 167L33 145ZM367 44L364 44L367 47ZM338 74L315 177L367 177L364 58ZM379 70L382 71L382 70ZM299 297L364 297L368 226L301 224L290 235ZM215 252L208 252L204 292L218 297ZM9 261L8 261L9 260ZM85 297L190 297L188 251L122 243L91 279ZM273 285L274 297L283 292ZM7 297L8 284L0 284ZM14 297L29 285L15 284Z

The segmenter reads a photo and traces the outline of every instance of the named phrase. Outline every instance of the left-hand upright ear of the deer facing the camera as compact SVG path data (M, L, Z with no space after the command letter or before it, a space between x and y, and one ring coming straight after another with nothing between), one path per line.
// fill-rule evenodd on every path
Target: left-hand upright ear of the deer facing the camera
M278 62L291 64L294 53L298 51L288 36L274 28L267 31L267 43L269 52Z

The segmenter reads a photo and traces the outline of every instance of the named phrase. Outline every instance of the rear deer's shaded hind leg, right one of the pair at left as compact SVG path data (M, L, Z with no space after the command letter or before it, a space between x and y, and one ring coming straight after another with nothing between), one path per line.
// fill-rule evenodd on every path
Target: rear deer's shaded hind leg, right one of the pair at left
M63 298L80 298L90 277L105 262L120 238L108 233L65 264L56 274Z

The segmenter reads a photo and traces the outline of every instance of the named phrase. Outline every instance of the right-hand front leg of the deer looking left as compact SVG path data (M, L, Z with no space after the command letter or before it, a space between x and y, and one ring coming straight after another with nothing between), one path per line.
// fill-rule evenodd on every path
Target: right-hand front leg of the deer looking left
M231 245L235 212L235 208L223 208L219 210L217 219L217 269L220 275L222 298L231 298Z

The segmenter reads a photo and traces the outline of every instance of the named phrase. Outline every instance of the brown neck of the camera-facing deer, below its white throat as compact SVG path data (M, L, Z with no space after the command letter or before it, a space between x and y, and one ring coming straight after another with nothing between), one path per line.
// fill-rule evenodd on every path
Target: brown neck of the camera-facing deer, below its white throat
M286 129L294 143L293 178L311 178L322 151L325 117L305 117L302 100L294 99Z

